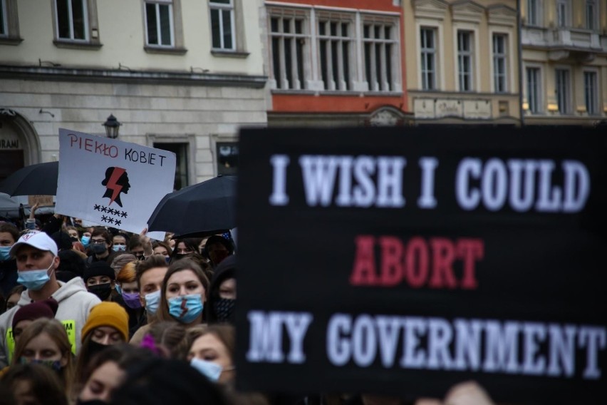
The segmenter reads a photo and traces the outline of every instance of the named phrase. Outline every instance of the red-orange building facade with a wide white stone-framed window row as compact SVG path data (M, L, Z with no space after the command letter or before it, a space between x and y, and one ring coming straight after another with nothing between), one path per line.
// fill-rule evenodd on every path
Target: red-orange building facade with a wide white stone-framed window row
M404 125L400 0L264 1L268 125Z

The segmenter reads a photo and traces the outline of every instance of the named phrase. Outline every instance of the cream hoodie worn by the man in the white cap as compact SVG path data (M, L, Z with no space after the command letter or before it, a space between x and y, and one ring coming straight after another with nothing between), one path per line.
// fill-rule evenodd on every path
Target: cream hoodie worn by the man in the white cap
M81 330L90 309L101 301L95 294L86 290L81 277L73 278L68 282L58 281L58 284L59 289L51 295L59 304L55 319L66 327L72 345L72 353L77 354L81 344ZM7 366L12 352L14 352L11 325L15 312L24 305L31 304L31 302L28 290L25 290L16 306L0 316L0 366Z

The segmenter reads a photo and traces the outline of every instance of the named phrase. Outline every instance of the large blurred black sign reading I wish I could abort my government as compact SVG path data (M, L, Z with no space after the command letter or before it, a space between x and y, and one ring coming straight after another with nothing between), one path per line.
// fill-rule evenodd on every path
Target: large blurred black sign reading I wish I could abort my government
M607 403L606 140L243 130L239 388Z

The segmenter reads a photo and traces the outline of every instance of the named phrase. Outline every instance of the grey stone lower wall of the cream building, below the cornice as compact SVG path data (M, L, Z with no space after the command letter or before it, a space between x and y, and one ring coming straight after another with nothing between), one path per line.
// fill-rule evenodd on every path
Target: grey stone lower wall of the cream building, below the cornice
M263 91L227 86L9 79L0 80L0 106L23 117L28 136L37 137L40 152L26 164L58 160L59 128L105 136L102 123L113 114L123 123L120 140L187 145L190 184L217 175L217 142L234 142L241 126L266 122ZM25 144L13 126L5 116L1 137L20 136Z

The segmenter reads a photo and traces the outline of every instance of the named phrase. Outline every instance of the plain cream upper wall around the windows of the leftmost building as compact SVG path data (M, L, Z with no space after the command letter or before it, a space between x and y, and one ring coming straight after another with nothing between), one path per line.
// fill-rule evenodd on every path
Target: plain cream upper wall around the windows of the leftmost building
M24 39L19 46L2 46L0 59L21 65L42 61L61 66L118 69L119 64L132 70L194 71L262 75L259 1L236 0L235 14L239 51L248 53L219 56L211 52L211 29L208 1L173 0L176 51L152 51L145 48L144 1L88 1L95 6L97 35L101 46L66 48L53 46L54 0L16 1L19 31ZM246 19L245 19L246 16ZM241 26L238 26L241 24ZM93 29L89 29L92 31ZM48 66L48 63L47 63ZM125 68L123 68L125 70Z

